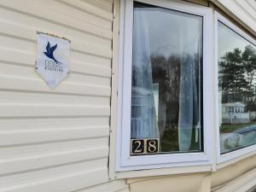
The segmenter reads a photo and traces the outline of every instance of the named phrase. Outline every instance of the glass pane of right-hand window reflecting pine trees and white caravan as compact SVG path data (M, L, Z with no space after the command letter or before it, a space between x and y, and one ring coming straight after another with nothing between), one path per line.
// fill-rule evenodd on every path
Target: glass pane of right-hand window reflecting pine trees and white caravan
M218 22L221 154L256 143L256 47Z

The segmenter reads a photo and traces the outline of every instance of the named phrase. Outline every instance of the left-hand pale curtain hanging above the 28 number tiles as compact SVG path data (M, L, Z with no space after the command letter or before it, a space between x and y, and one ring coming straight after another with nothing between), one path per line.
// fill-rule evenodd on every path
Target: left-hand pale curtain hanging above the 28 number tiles
M132 48L131 138L159 138L148 23L143 9L134 9Z

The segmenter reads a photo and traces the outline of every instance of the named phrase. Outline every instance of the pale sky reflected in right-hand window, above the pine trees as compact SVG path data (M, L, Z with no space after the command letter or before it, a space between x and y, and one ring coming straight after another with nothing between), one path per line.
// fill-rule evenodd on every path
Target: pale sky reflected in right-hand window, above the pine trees
M218 59L224 56L226 52L233 51L235 48L244 51L248 44L251 43L218 21Z

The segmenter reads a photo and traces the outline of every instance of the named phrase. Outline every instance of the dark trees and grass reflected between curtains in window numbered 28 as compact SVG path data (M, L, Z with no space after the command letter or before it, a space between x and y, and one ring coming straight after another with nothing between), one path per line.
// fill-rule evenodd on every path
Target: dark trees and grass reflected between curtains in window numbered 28
M180 63L178 55L169 58L151 55L153 81L159 84L158 125L162 151L178 151Z

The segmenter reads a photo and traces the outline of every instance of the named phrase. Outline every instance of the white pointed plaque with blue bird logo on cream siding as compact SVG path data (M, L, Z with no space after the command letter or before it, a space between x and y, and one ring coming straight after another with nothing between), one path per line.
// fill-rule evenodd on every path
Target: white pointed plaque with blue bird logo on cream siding
M50 88L55 88L67 77L69 52L67 39L38 33L36 70Z

